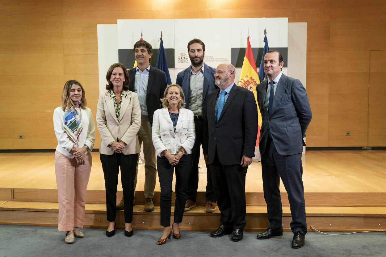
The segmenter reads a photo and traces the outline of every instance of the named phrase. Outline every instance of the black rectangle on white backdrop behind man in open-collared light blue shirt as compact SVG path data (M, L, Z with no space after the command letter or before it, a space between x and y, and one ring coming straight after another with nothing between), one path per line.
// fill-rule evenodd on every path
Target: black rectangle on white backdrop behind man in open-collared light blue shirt
M174 68L174 48L164 48L168 68ZM153 49L150 64L156 67L159 49ZM134 66L134 52L133 49L118 49L118 61L126 68L131 69Z

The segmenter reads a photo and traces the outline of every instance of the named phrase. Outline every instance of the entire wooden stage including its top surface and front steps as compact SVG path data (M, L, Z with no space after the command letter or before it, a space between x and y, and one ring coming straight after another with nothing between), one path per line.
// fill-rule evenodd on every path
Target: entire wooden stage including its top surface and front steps
M97 152L86 194L85 226L106 227L105 185ZM308 151L303 155L306 220L309 228L324 231L371 231L386 229L386 151ZM181 228L214 230L220 212L206 213L206 168L200 162L197 208L184 213ZM0 154L0 224L58 224L58 203L54 153ZM262 194L261 164L248 168L246 179L247 227L267 228L267 209ZM136 191L143 191L144 164L139 165ZM119 190L122 187L119 185ZM174 189L173 189L174 190ZM144 197L135 195L133 227L160 229L159 183L154 196L155 210L144 211ZM289 231L291 213L288 196L281 185L283 228ZM118 192L120 200L122 192ZM173 198L174 200L174 198ZM173 215L172 208L172 215ZM124 224L123 211L117 223ZM173 219L173 216L171 217ZM311 230L311 229L310 229Z

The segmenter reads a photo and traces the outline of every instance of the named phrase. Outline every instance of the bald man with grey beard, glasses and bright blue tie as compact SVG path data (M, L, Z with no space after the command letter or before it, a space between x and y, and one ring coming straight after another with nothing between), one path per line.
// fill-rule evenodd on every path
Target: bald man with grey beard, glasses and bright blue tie
M245 175L255 152L257 105L251 91L234 83L232 64L218 65L214 76L219 89L208 95L203 150L210 164L221 225L210 236L232 233L232 241L240 241L247 222Z

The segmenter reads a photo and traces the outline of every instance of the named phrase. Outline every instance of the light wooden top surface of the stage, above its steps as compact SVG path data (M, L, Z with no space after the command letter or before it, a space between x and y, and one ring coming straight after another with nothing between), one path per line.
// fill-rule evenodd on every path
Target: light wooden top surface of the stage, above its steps
M92 153L88 190L105 190L99 154ZM307 151L303 160L305 192L386 192L386 150ZM206 167L200 161L198 191L205 191ZM0 188L56 189L54 153L1 153ZM248 168L246 192L262 192L261 163ZM143 191L144 164L139 165L136 191ZM281 191L285 192L281 183ZM122 187L118 186L118 190ZM155 191L159 191L157 179ZM174 190L174 187L173 187Z

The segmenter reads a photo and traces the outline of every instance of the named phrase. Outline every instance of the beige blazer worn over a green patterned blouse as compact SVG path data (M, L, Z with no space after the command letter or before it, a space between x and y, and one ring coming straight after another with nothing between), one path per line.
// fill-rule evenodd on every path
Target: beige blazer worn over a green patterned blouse
M125 93L127 98L122 98L119 122L115 115L114 98L110 98L110 92L106 90L99 95L97 127L102 138L99 148L101 154L112 155L114 150L108 145L121 140L127 144L123 154L137 154L141 151L137 137L141 127L138 95L129 90Z

